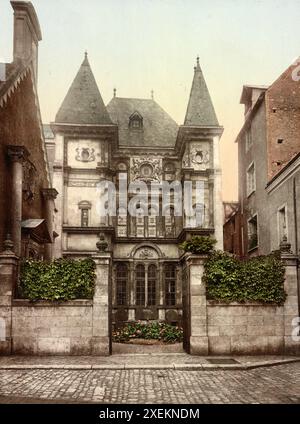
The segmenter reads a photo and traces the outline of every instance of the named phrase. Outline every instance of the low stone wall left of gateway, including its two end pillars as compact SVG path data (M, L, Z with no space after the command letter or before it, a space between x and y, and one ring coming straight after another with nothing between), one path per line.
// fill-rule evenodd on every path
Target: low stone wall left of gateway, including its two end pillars
M109 355L110 253L93 256L92 300L30 302L14 299L18 258L10 248L6 242L0 254L0 354Z

